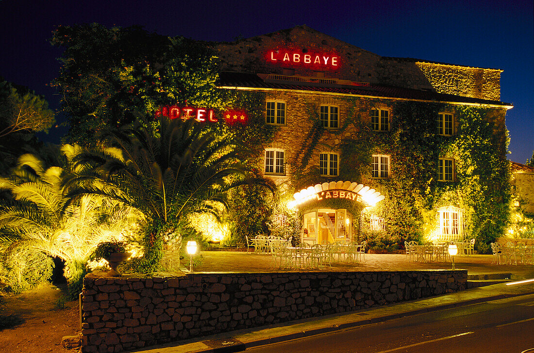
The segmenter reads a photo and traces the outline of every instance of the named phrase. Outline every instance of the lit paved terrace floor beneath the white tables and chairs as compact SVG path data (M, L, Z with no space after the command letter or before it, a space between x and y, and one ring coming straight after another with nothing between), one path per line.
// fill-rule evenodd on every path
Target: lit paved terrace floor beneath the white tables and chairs
M451 262L419 263L408 261L403 254L365 254L365 261L359 263L332 263L322 269L288 269L273 268L271 255L245 253L237 251L202 251L202 262L194 267L194 272L280 272L280 271L402 271L402 270L433 270L450 269ZM510 273L522 278L534 278L532 264L497 265L491 264L492 255L454 256L457 269L467 269L468 275L485 275ZM184 265L189 268L189 261Z

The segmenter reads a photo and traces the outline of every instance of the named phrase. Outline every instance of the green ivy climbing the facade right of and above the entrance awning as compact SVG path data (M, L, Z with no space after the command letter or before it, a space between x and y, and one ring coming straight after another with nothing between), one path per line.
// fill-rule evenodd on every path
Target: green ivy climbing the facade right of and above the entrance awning
M349 114L342 118L339 130L328 132L319 122L318 107L310 103L312 127L303 132L305 142L287 161L290 180L285 186L285 198L303 187L333 180L320 175L318 166L310 163L310 156L317 153L318 147L328 145L326 133L338 135L342 137L340 146L326 146L340 151L340 173L335 180L357 181L386 196L373 210L384 218L386 230L366 233L368 223L362 222L363 237L372 234L389 249L401 247L404 240L426 240L437 228L436 210L455 206L464 210L465 237L476 238L478 251L487 253L489 244L504 234L509 222L505 110L439 102L340 100L350 107ZM391 129L374 132L368 117L370 110L384 106L390 109ZM454 135L436 133L440 112L454 114ZM390 178L372 178L373 154L391 157ZM439 157L454 158L453 182L438 181Z

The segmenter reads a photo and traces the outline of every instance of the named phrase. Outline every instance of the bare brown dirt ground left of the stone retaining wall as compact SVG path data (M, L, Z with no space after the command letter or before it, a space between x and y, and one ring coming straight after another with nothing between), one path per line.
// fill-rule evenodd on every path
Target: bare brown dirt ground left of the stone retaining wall
M78 302L66 302L65 309L57 310L61 290L51 284L42 284L35 290L17 296L6 296L4 314L20 315L23 322L13 328L0 330L1 353L66 353L61 346L63 336L80 333Z

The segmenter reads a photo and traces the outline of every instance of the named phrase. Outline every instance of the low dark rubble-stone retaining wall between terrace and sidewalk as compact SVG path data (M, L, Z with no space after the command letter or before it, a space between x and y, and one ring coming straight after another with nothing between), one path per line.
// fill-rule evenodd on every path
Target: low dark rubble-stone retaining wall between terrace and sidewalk
M82 352L120 352L464 290L467 270L83 280Z

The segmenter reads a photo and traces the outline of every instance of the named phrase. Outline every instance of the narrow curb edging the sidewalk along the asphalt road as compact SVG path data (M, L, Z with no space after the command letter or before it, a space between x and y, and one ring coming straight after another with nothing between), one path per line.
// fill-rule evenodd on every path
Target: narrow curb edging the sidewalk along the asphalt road
M241 352L241 351L245 351L247 348L254 348L254 347L264 346L266 344L280 343L280 342L285 342L285 341L290 341L290 340L295 340L295 339L300 339L300 338L306 338L306 337L309 337L309 336L323 334L323 333L336 332L336 331L344 330L346 328L380 323L380 322L384 322L384 321L387 321L387 320L397 319L397 318L400 318L400 317L424 314L424 313L427 313L427 312L434 312L434 311L439 311L439 310L447 310L447 309L452 309L452 308L459 308L459 307L464 307L464 306L468 306L468 305L471 305L471 304L478 304L478 303L489 302L489 301L493 301L493 300L514 298L516 296L531 295L531 294L534 294L534 291L524 292L524 293L517 293L517 294L508 293L508 294L490 295L490 296L485 296L483 298L469 299L469 300L464 300L464 301L460 301L460 302L456 302L456 303L447 303L447 304L437 305L437 306L433 306L433 307L429 307L429 308L414 309L414 310L400 312L398 314L390 314L390 315L385 315L385 316L381 316L381 317L374 317L374 318L370 318L370 319L356 320L356 321L351 322L351 323L345 323L345 324L340 324L340 325L336 325L335 324L335 325L331 325L331 326L328 326L328 327L314 328L314 329L311 329L311 330L294 332L294 333L290 333L290 334L287 334L287 335L280 335L280 336L276 336L276 337L272 337L272 338L258 339L258 340L250 341L250 342L246 342L246 343L240 342L239 340L236 340L236 339L233 339L233 340L237 341L238 344L234 344L232 346L227 346L227 347L220 347L220 348L208 348L208 349L205 349L205 350L195 350L194 352L195 353L200 353L200 352L206 352L206 353L211 353L211 352L213 352L213 353ZM376 308L373 308L373 309L376 309ZM208 341L200 341L200 342L203 343L203 342L208 342Z

